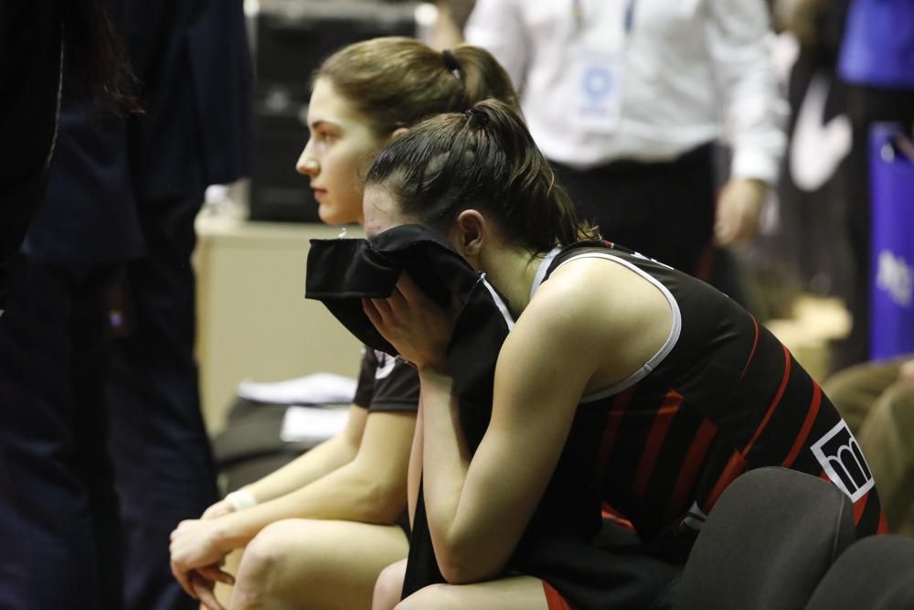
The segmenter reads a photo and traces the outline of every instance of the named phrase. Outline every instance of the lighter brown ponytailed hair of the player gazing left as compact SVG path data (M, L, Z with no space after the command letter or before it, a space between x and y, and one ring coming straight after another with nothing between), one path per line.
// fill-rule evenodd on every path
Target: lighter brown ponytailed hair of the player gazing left
M511 78L484 48L445 54L409 37L380 37L336 51L314 72L352 103L378 136L438 112L466 110L497 98L519 112Z

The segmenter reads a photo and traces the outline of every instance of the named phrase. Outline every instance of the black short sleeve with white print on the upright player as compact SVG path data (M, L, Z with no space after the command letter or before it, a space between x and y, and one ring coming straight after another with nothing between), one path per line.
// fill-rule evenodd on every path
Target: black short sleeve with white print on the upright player
M419 374L402 359L365 347L353 404L369 413L419 410Z

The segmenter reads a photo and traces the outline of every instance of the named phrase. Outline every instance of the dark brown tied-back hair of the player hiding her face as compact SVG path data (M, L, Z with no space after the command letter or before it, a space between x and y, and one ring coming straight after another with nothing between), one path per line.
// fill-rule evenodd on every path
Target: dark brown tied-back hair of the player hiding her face
M445 233L473 208L534 252L597 237L579 221L523 119L497 100L413 125L377 155L370 184L388 188L407 217Z

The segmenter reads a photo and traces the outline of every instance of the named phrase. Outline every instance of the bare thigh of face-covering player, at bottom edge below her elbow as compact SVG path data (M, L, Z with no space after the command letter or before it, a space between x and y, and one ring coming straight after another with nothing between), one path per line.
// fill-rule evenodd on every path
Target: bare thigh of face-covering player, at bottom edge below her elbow
M512 576L476 584L432 584L409 597L396 610L548 610L543 582Z

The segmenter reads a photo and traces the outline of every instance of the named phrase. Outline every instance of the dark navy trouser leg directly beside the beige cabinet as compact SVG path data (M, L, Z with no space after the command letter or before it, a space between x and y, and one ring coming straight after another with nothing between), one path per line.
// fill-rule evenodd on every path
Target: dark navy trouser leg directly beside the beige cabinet
M217 499L194 359L194 218L203 193L139 202L146 255L116 294L111 449L127 610L198 607L171 575L168 534Z

